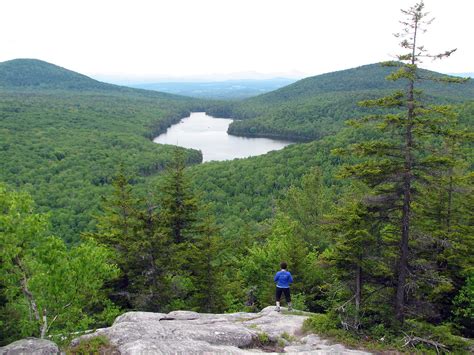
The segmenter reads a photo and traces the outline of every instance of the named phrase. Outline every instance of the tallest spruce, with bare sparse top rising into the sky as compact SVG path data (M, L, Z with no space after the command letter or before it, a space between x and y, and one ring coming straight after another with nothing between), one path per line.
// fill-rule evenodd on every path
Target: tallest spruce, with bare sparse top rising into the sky
M433 171L449 169L449 159L432 153L431 144L443 141L452 129L455 116L445 105L429 105L421 90L421 81L433 80L459 83L462 79L423 76L418 65L423 58L442 59L454 51L430 54L419 44L419 37L432 20L427 20L423 1L408 10L402 10L403 29L396 37L401 39L403 53L397 62L385 63L398 69L388 80L402 81L405 90L391 95L367 100L362 106L389 109L388 114L374 114L354 121L355 126L371 126L378 131L372 139L355 144L350 151L362 158L362 162L345 167L345 176L364 181L371 189L367 199L373 206L385 210L389 219L398 225L399 251L395 266L394 312L403 322L406 315L407 292L416 284L410 269L414 245L414 216L412 207L419 202L420 187L429 183Z

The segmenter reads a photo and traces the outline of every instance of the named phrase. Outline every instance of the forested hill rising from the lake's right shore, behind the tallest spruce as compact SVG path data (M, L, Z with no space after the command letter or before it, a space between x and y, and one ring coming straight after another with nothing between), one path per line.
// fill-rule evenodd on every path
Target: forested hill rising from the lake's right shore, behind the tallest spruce
M313 76L241 102L215 105L208 113L242 119L229 127L229 133L236 135L318 139L336 133L345 120L368 113L358 106L359 101L404 89L402 81L386 80L395 69L377 63ZM444 76L428 70L420 72L429 78ZM473 80L465 84L424 81L419 88L428 100L439 103L462 103L474 98Z

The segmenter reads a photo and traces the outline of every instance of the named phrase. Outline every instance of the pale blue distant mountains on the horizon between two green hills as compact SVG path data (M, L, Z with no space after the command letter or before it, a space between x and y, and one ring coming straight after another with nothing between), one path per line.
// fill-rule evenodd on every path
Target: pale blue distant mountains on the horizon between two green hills
M206 82L157 82L129 84L128 86L197 98L243 99L279 89L295 81L295 79L274 78Z

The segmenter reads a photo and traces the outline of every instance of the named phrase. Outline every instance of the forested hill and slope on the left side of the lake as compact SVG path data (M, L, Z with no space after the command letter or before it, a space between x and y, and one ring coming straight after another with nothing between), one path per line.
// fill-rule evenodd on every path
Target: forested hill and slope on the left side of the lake
M138 181L172 149L151 138L200 103L122 88L38 60L0 63L0 180L55 211L56 234L77 241L120 164ZM191 163L200 153L188 151Z

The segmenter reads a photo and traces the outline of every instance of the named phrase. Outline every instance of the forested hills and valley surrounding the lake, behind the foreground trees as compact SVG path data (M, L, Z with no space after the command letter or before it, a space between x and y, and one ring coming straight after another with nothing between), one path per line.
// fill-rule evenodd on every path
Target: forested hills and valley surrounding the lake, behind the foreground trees
M328 156L334 145L329 136L341 130L346 118L363 113L357 101L395 87L384 80L386 74L387 68L368 65L307 78L241 102L217 102L105 84L38 60L0 63L0 181L30 191L41 211L54 211L55 233L74 242L93 228L100 196L110 191L120 164L140 189L153 186L153 176L173 148L150 138L190 111L242 118L232 125L235 134L327 137L261 157L193 168L198 188L215 204L230 236L270 217L273 197L310 167L324 165L331 171L337 161ZM442 101L463 102L474 97L472 88L468 83L438 91L447 97ZM469 114L472 106L463 112ZM188 151L188 162L200 162L199 153Z

